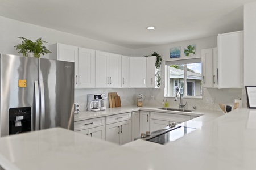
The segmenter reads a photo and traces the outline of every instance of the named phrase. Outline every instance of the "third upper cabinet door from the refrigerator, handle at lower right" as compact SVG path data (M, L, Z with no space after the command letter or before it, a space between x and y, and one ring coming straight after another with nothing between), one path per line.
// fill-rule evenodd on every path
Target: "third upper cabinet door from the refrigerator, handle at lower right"
M109 53L96 51L95 87L109 87Z

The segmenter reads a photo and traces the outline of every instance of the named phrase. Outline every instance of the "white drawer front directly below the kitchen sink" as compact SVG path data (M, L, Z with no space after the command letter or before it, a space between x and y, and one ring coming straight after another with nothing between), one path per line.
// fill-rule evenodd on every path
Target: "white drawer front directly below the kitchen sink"
M191 116L183 115L183 114L172 114L172 113L158 113L158 112L151 112L151 118L156 120L166 120L172 122L185 122L191 120Z

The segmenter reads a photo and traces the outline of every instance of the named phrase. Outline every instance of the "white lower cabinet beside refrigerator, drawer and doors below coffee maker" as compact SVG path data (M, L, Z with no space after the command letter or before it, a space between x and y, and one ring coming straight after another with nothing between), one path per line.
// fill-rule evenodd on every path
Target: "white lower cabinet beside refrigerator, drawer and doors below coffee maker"
M74 131L105 140L105 117L76 121Z

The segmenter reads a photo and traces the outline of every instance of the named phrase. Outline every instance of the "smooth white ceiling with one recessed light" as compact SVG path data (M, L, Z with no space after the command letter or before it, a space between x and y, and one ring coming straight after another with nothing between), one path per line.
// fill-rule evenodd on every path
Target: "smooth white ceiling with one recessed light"
M140 49L242 30L243 4L254 1L0 0L0 16Z

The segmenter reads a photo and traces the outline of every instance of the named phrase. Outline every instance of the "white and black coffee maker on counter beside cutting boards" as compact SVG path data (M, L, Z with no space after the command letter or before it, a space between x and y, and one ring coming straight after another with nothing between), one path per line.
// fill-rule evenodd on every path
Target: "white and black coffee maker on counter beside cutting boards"
M106 94L88 94L87 111L105 110L104 101L107 99Z

